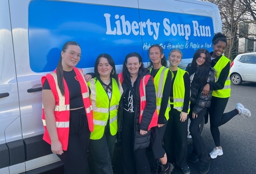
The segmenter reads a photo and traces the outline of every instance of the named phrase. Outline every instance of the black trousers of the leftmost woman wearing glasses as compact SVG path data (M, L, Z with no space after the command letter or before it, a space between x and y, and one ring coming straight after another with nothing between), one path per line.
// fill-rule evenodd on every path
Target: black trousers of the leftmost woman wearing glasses
M64 173L89 173L87 151L90 139L85 109L70 111L70 131L68 150L58 155L64 163Z

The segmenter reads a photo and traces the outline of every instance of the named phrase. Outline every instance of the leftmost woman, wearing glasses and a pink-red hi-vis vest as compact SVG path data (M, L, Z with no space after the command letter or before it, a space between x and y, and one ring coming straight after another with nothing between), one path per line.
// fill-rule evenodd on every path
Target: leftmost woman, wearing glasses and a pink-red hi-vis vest
M87 151L93 130L89 89L82 69L81 48L68 41L61 50L57 68L42 77L43 139L64 163L65 174L89 173Z

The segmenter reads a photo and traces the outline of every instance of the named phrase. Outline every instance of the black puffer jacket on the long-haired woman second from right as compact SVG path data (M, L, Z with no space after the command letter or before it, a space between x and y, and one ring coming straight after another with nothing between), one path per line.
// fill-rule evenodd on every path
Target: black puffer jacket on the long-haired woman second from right
M214 69L210 67L207 83L214 82L215 80L214 75L215 75ZM202 109L206 107L209 108L211 105L212 91L210 91L209 94L206 97L204 97L204 95L201 93L203 91L203 88L204 86L200 86L200 84L197 84L194 80L192 81L191 88L190 88L190 91L191 91L190 100L191 100L191 104L194 105L192 110L195 113L199 113Z

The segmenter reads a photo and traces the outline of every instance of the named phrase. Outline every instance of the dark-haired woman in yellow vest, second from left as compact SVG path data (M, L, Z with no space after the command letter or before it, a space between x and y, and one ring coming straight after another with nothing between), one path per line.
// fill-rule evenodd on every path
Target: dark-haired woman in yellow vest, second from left
M94 130L89 151L95 160L96 173L113 173L111 157L117 133L117 110L123 93L115 63L109 54L100 54L95 62L95 78L88 82L93 110Z

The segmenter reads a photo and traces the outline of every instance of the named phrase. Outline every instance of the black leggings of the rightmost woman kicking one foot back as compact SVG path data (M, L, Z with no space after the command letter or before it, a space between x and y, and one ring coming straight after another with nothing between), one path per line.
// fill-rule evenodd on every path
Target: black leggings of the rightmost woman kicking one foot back
M214 96L211 98L211 106L209 108L210 129L216 147L221 146L219 126L230 121L239 113L237 109L224 113L228 98L229 97L219 98Z

